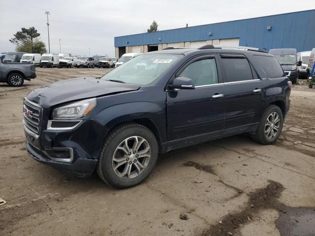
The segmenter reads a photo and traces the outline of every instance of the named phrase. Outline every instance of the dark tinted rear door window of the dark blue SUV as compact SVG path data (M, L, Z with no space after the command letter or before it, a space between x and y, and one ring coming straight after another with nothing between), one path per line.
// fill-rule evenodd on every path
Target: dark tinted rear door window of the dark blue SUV
M252 69L246 58L222 58L226 82L252 80Z

